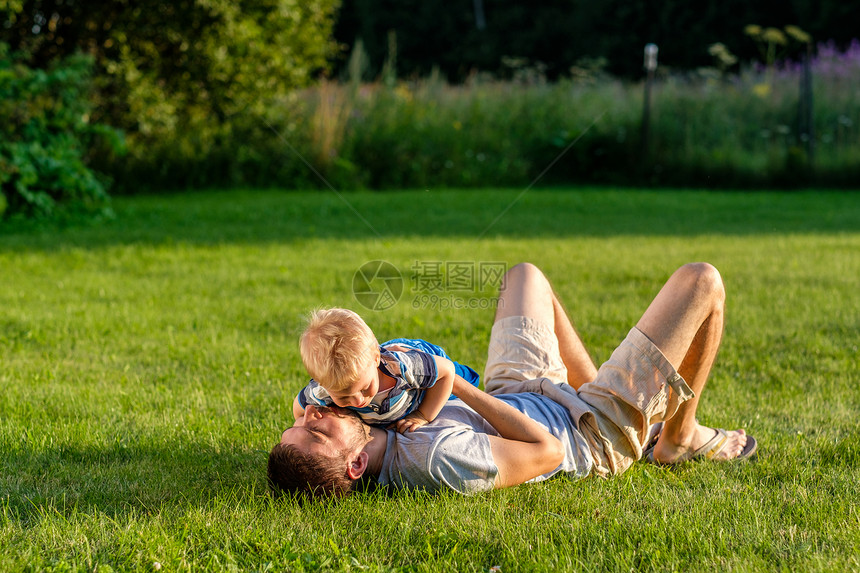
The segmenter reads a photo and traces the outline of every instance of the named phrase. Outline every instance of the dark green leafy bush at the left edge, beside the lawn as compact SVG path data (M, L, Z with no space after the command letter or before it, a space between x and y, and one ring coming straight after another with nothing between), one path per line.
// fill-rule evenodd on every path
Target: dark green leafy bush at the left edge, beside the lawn
M109 212L107 180L85 159L96 138L119 149L121 137L88 122L91 67L78 55L31 69L0 44L0 214Z

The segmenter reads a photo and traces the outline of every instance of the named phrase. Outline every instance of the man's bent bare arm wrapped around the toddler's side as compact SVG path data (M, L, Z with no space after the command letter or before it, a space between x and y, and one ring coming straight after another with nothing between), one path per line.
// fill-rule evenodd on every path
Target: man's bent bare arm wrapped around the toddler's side
M564 459L561 442L516 408L478 390L459 376L454 379L453 390L499 433L499 436L489 436L493 460L499 468L497 489L519 485L550 472Z

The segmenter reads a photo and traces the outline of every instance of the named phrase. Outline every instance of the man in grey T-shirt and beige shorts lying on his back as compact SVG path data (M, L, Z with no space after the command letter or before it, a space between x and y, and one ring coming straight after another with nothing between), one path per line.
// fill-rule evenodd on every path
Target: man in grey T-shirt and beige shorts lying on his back
M437 418L414 432L369 427L346 410L309 406L269 455L276 493L344 495L367 478L394 488L470 494L660 464L752 456L743 430L698 423L696 407L723 330L717 270L677 270L600 370L546 277L505 275L481 392L462 379ZM652 426L663 422L647 447ZM643 452L643 449L645 451Z

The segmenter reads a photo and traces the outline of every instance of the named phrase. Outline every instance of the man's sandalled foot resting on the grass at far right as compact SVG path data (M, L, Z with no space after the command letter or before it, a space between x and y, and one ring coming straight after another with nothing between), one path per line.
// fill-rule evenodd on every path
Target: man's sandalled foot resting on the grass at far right
M749 458L755 453L755 439L748 436L744 430L726 431L698 423L696 426L683 443L661 435L649 454L649 461L658 464L678 464L694 459L729 461Z

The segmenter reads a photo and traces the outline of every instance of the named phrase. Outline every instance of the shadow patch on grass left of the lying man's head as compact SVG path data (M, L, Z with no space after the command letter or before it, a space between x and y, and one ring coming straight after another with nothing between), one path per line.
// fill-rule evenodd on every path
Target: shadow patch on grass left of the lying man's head
M221 495L263 495L268 452L211 448L61 446L6 453L0 509L22 524L45 514L146 513L165 506L205 506Z

